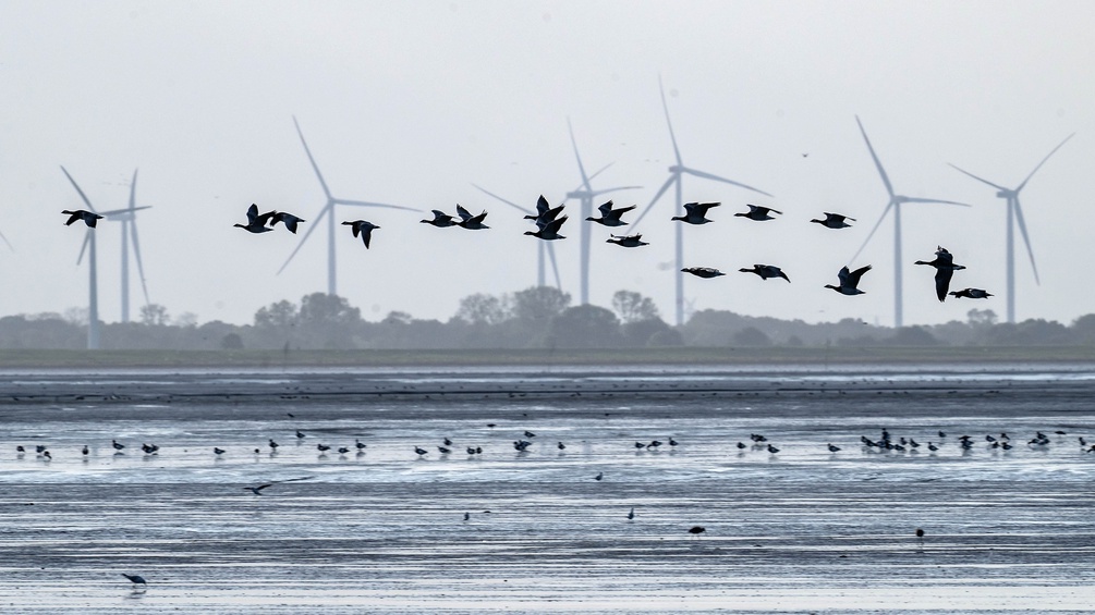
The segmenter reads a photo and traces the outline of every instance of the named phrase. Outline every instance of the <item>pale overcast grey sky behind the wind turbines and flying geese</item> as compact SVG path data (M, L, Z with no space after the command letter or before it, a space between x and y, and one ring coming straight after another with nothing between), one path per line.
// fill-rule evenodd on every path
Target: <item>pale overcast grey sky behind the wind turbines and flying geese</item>
M368 320L447 320L462 297L535 282L528 221L472 183L527 207L540 194L561 201L579 181L568 117L587 169L614 163L595 187L641 185L613 197L649 202L672 163L660 74L684 163L775 195L685 178L687 201L723 202L714 223L684 229L685 264L734 271L688 279L695 310L892 323L891 221L851 263L874 265L867 294L822 288L887 202L858 115L899 193L973 206L902 209L906 324L1004 314L1004 202L946 163L1014 186L1075 131L1023 192L1041 285L1025 253L1016 266L1018 318L1068 323L1095 311L1092 24L1095 3L1083 1L3 1L0 232L15 250L0 245L0 315L87 305L83 229L60 214L81 204L61 164L101 210L125 207L140 169L149 293L172 315L249 323L272 302L325 291L320 229L275 275L311 222L297 236L232 228L251 202L310 221L323 206L296 115L336 196L489 211L479 232L337 211L382 227L369 251L338 229L339 294ZM747 201L784 216L734 218ZM555 242L575 300L576 209L570 239ZM821 211L858 224L808 223ZM643 248L592 229L592 303L635 290L672 321L675 214L670 194L642 222ZM119 228L96 231L107 322L120 317ZM940 304L932 270L912 266L936 245L968 266L957 288L1000 297ZM782 266L793 283L736 272L753 263ZM131 288L136 315L136 277Z

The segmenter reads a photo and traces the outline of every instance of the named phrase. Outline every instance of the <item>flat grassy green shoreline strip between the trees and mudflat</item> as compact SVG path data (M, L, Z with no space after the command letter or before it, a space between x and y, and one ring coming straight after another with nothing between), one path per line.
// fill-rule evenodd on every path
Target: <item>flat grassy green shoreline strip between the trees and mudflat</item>
M0 370L80 368L384 368L1095 363L1095 347L675 347L488 350L2 350Z

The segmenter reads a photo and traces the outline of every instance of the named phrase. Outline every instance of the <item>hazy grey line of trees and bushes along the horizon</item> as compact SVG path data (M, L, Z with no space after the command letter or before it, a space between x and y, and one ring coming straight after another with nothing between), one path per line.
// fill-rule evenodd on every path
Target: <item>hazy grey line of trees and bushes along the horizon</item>
M809 324L725 310L695 312L670 326L654 302L621 290L611 309L572 305L569 293L531 287L493 295L471 294L447 322L391 312L378 322L342 297L307 294L261 308L249 325L198 324L193 314L171 318L164 306L145 305L139 322L101 324L103 349L353 350L520 349L649 347L872 347L872 346L1075 346L1095 345L1095 314L1063 325L1031 318L1000 323L992 310L970 310L965 322L887 327L855 318ZM0 317L0 348L83 349L87 312Z

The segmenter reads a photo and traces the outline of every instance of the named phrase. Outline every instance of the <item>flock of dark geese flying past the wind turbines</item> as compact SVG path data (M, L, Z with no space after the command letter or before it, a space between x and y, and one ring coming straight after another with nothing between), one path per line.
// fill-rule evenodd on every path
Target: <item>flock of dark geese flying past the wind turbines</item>
M671 220L680 221L685 224L706 224L712 222L707 218L707 212L714 207L718 207L719 202L688 202L684 204L684 216L675 216ZM736 212L735 217L747 218L749 220L754 220L757 222L763 222L766 220L774 220L775 218L772 213L783 214L782 211L772 209L771 207L764 207L759 205L747 204L749 211ZM567 221L568 217L563 216L563 209L565 206L560 205L552 207L551 204L542 195L537 201L537 212L534 214L525 216L526 220L532 220L535 225L535 231L526 231L526 235L532 235L537 239L543 241L555 241L566 239L564 235L560 234L563 224ZM623 221L623 214L635 209L636 206L627 207L614 207L613 201L608 201L598 208L600 212L600 218L586 218L587 221L596 222L598 224L616 228L625 227L627 222ZM95 222L102 218L102 216L83 209L77 210L64 210L62 213L67 214L69 218L65 222L66 224L72 224L78 220L82 220L88 227L94 228ZM481 231L484 229L489 229L483 221L486 219L486 211L479 213L477 216L472 216L470 211L457 205L457 214L452 216L446 213L439 209L433 210L434 218L429 220L420 220L419 222L425 224L430 224L437 228L447 227L460 227L470 231ZM260 213L258 206L252 204L247 208L247 223L246 224L233 224L243 229L250 233L267 233L277 227L278 222L285 224L285 228L296 234L297 225L301 222L307 222L307 220L288 213L285 211L270 210L265 213ZM811 219L810 222L816 222L821 224L827 229L846 229L851 227L848 222L854 222L854 218L849 218L848 216L841 213L825 212L825 219ZM368 220L348 220L344 221L343 225L350 227L351 232L355 237L360 237L361 242L365 243L366 250L369 248L369 244L372 241L372 232L380 227L369 222ZM613 243L622 247L641 247L644 245L649 245L647 242L643 241L642 234L634 235L610 235L608 243ZM965 269L963 265L956 265L954 263L954 256L946 251L944 247L938 247L935 252L935 258L933 260L917 260L917 265L930 265L935 267L935 292L940 301L945 301L947 295L956 298L966 299L988 299L992 297L992 293L987 292L979 288L966 288L958 291L950 291L950 278L954 276L955 271ZM769 278L783 278L787 282L791 278L775 265L765 264L754 264L751 268L740 268L739 271L756 274L760 276L762 280ZM863 294L864 291L858 288L860 279L864 274L871 270L871 265L860 267L855 270L850 270L848 266L844 266L837 274L837 285L825 285L825 288L830 288L841 294L854 295ZM719 276L725 276L723 271L714 267L685 267L681 269L682 272L691 274L700 278L717 278Z

